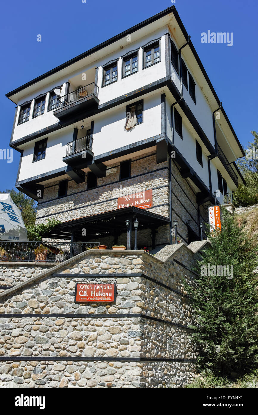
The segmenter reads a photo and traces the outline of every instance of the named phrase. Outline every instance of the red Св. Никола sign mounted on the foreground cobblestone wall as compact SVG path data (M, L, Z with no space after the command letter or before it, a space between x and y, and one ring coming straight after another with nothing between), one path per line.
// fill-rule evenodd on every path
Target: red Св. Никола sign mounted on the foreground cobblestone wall
M75 302L94 303L96 301L112 303L115 300L115 284L84 284L76 283Z

